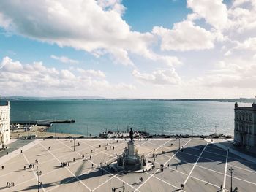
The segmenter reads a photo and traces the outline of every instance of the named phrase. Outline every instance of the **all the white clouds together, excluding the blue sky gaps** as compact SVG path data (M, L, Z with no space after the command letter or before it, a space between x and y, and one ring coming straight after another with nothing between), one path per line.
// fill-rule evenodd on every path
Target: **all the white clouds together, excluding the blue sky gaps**
M254 0L234 0L230 4L222 0L187 0L191 12L186 18L173 26L159 24L147 32L132 30L123 19L127 8L121 0L10 0L0 4L0 26L5 32L83 50L96 60L110 56L113 63L128 66L127 79L133 78L131 83L110 83L102 70L48 68L42 62L26 65L5 57L0 85L8 85L12 90L39 85L42 90L56 89L56 93L57 89L71 88L79 94L83 89L91 93L107 89L135 93L132 91L139 86L140 90L148 88L149 91L138 93L145 96L156 86L161 89L161 85L159 93L165 92L165 97L172 98L178 96L166 91L172 86L178 86L179 95L187 97L199 96L192 90L200 90L200 97L211 96L213 88L219 96L230 95L229 88L252 96L256 88ZM150 66L136 63L133 55L140 58L138 61L149 61ZM64 55L50 57L65 64L79 63ZM125 96L127 92L122 93Z

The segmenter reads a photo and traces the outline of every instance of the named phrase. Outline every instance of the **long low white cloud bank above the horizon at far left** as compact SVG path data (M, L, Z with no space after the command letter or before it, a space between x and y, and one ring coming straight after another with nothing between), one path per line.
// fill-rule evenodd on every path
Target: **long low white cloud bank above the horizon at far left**
M49 96L56 91L56 96L61 96L65 91L69 91L68 95L75 95L86 94L86 91L99 94L97 91L106 92L111 89L115 92L121 89L135 89L134 85L108 82L105 80L104 72L99 70L79 68L74 72L67 69L57 70L45 67L42 62L21 64L20 61L12 61L8 57L1 61L0 87L4 88L4 92L12 95L29 90L30 95L42 92L42 95Z

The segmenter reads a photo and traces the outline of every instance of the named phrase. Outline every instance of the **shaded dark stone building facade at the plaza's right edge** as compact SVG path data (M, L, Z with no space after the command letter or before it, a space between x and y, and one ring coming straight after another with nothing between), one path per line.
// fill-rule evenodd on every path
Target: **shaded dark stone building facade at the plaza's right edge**
M256 146L256 104L238 107L235 104L234 142L241 146Z

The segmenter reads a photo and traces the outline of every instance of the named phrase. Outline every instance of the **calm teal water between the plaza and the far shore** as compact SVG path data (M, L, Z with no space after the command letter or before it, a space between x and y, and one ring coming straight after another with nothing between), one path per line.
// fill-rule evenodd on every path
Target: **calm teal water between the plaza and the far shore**
M127 130L151 134L233 135L234 104L215 101L38 100L11 101L11 120L74 119L54 124L50 132L99 135ZM193 127L193 128L192 128Z

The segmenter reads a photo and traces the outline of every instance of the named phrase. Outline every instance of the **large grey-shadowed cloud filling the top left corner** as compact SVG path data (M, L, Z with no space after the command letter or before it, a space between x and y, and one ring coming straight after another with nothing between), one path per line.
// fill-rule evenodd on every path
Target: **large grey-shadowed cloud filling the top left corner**
M129 53L147 56L155 41L150 33L130 30L118 0L10 0L1 2L0 12L0 26L14 34L95 55L105 50L124 65L133 65Z

